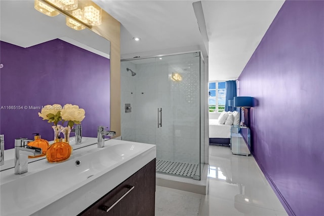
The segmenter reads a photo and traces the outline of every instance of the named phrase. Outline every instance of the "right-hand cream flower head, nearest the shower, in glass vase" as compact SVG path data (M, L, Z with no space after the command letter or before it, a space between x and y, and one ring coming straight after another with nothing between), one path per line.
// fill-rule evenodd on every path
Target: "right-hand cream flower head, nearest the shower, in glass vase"
M85 118L85 114L84 109L72 104L65 104L61 111L62 119L69 122L81 122Z

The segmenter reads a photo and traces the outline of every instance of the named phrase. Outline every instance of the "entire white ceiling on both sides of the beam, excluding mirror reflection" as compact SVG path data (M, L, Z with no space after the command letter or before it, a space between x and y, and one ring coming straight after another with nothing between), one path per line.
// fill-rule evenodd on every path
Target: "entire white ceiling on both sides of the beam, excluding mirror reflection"
M196 1L94 2L122 24L122 59L204 46L192 6ZM201 1L209 38L210 81L238 78L283 3ZM134 37L141 41L133 41Z

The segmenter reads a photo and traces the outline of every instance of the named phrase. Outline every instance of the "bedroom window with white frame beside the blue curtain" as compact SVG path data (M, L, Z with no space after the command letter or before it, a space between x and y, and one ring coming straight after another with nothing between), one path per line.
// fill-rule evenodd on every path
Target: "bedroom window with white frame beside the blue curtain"
M225 84L225 82L209 83L209 112L221 113L225 110Z

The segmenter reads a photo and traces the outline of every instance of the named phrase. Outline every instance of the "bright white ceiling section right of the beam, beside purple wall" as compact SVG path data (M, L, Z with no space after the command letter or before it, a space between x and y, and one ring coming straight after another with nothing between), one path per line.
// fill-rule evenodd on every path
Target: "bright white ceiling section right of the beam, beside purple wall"
M237 79L284 1L203 1L209 80Z

